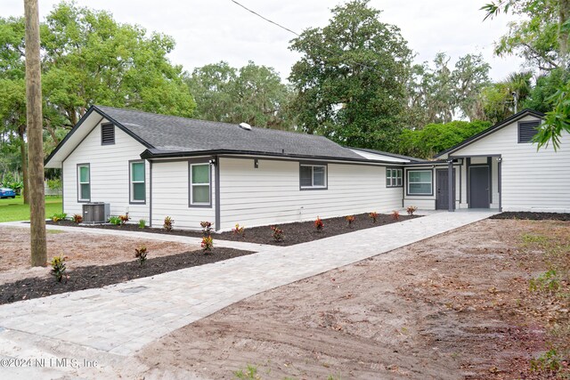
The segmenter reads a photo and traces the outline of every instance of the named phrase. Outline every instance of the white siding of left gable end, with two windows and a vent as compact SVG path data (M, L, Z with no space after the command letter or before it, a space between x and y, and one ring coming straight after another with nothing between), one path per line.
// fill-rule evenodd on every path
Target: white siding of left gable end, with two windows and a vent
M101 123L107 123L102 120ZM144 219L149 222L150 164L145 162L146 204L129 204L129 160L141 159L145 147L115 127L115 144L101 144L101 123L94 126L77 149L63 162L63 210L82 214L83 203L77 202L77 164L89 164L91 174L91 202L110 204L110 214L126 214L131 222ZM89 127L89 125L82 125ZM49 216L49 215L48 215Z

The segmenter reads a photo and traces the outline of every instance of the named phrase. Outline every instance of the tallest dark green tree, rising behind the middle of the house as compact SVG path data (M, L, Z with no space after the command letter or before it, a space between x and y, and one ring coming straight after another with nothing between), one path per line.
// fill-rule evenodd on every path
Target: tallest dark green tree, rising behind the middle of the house
M390 150L403 128L411 51L399 28L368 0L332 9L324 28L306 29L289 49L302 53L289 81L306 133L354 147Z

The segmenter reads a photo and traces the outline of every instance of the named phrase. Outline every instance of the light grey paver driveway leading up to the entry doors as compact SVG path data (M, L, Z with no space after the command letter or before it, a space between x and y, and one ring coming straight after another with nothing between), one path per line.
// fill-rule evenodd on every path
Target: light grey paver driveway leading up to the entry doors
M0 306L0 339L11 330L42 342L129 355L176 328L250 295L427 239L493 212L429 214L151 278ZM9 352L0 354L7 355Z

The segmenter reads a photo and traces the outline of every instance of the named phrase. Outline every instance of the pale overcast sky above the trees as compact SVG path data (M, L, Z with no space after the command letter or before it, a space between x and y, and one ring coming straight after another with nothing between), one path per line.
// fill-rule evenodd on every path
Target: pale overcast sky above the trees
M330 9L343 0L238 0L266 18L297 33L324 27ZM371 0L382 10L380 20L401 29L415 61L432 61L438 52L451 56L453 64L467 53L482 53L492 66L493 80L504 79L520 68L515 56L493 56L493 43L507 30L514 16L501 14L483 20L479 9L489 0ZM2 0L0 15L23 15L23 0ZM40 20L57 0L39 0ZM299 54L289 51L291 33L247 12L231 0L76 0L79 5L111 12L119 22L138 24L148 31L173 36L169 58L191 71L208 63L228 61L241 67L254 61L276 69L283 80Z

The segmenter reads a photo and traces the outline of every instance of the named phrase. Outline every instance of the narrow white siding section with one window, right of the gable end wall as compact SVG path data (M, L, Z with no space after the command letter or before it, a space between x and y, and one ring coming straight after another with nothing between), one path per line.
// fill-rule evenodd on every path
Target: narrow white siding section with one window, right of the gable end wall
M175 229L199 230L202 221L215 224L215 167L211 166L212 206L190 207L188 165L188 161L156 161L152 164L152 226L162 226L167 216L175 221Z

